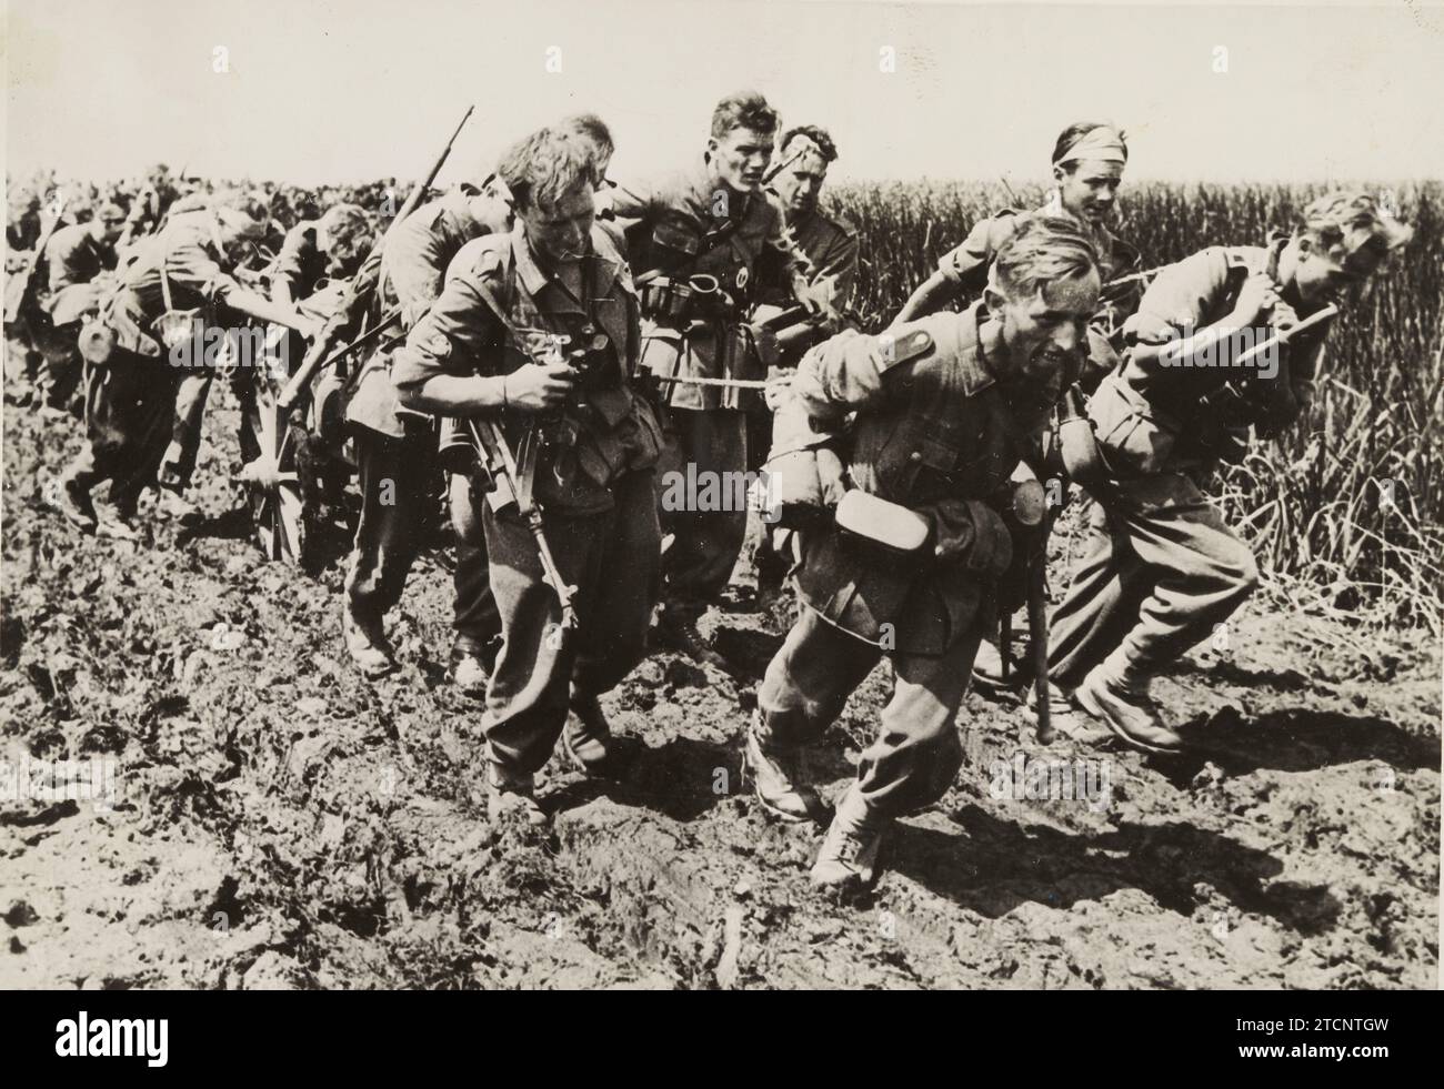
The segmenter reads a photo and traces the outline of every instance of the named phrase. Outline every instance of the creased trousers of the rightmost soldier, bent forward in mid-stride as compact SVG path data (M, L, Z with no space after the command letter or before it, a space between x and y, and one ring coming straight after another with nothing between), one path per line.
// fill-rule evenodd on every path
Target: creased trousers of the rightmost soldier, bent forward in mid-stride
M1048 627L1051 679L1071 691L1109 655L1142 679L1213 633L1258 584L1249 547L1183 473L1109 482L1087 551Z

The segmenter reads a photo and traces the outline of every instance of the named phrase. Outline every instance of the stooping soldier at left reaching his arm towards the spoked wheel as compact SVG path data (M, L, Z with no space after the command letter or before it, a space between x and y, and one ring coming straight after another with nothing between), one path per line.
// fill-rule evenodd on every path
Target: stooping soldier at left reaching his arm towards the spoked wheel
M166 444L173 431L185 427L176 397L191 371L175 365L172 356L173 345L191 338L188 317L222 309L315 332L312 323L241 287L232 275L248 255L251 239L264 229L257 218L261 213L250 200L235 199L172 218L160 234L146 239L117 290L103 303L103 327L81 345L88 363L87 444L71 462L56 495L61 512L77 528L136 539L130 522L140 492L157 483ZM178 441L182 438L178 434ZM182 446L195 449L191 441ZM172 475L159 483L179 490L191 467L172 466ZM98 519L91 490L103 480L111 482L114 516Z

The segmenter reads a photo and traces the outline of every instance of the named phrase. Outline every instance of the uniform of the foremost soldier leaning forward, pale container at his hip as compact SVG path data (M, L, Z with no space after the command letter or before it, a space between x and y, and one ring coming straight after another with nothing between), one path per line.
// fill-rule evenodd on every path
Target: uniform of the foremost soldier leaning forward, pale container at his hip
M767 668L760 730L770 746L817 740L885 653L897 687L858 790L881 816L937 801L962 762L953 720L1011 537L989 505L1045 423L998 387L998 329L980 304L898 326L891 343L845 332L804 356L780 413L840 426L855 488L923 513L947 557L888 552L836 525L801 534L807 606Z

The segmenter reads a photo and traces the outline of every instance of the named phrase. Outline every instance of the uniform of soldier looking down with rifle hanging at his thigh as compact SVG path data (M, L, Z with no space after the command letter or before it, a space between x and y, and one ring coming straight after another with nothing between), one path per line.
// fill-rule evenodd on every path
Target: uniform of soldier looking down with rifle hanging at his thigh
M542 581L536 539L516 503L481 505L491 588L501 612L503 646L487 692L491 760L508 775L540 769L562 734L569 694L612 688L641 659L657 600L658 548L654 466L661 431L635 395L630 375L640 348L638 303L625 263L601 228L583 258L583 291L543 271L521 222L482 239L469 268L448 280L442 297L397 353L403 398L438 375L505 375L530 362L549 336L573 345L598 332L588 376L560 413L500 413L520 463L534 451L534 498L562 577L575 584L579 629L556 638L560 606ZM504 309L527 345L517 345L482 291Z

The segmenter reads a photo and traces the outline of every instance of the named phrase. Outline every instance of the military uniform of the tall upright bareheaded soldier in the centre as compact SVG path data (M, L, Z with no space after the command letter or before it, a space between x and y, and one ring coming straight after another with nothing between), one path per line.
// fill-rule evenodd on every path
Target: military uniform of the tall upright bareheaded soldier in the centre
M790 278L801 254L783 229L783 209L770 193L739 195L716 180L705 162L667 177L654 189L618 186L612 211L625 224L632 268L644 299L657 277L686 283L713 275L728 299L693 313L667 316L648 307L643 322L641 366L653 375L764 378L742 309L751 297L757 263L775 254ZM653 286L648 286L653 284ZM699 479L744 473L747 398L735 388L666 384L667 446L660 464ZM755 397L755 395L754 395ZM702 607L728 584L747 537L747 511L666 512L673 535L664 560L669 603Z

